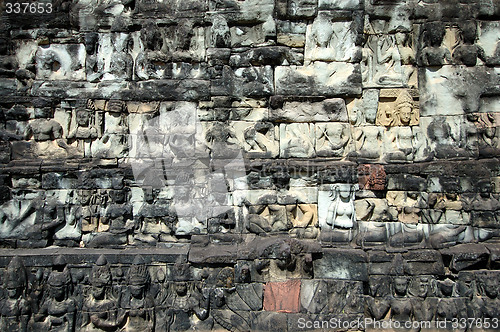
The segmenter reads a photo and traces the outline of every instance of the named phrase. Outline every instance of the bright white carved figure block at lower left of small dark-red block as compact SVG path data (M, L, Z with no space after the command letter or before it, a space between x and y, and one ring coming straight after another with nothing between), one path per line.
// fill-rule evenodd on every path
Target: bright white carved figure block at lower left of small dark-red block
M318 219L323 230L354 227L354 197L358 188L357 184L333 184L318 192Z

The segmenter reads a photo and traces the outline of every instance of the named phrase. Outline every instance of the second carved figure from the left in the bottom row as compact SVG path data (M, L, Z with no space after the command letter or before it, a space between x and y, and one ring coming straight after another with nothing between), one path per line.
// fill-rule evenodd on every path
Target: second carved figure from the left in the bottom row
M47 279L49 296L35 315L35 322L39 322L37 330L72 332L75 329L76 302L70 296L71 273L66 265L57 260L61 258L56 259L56 269L50 272Z

